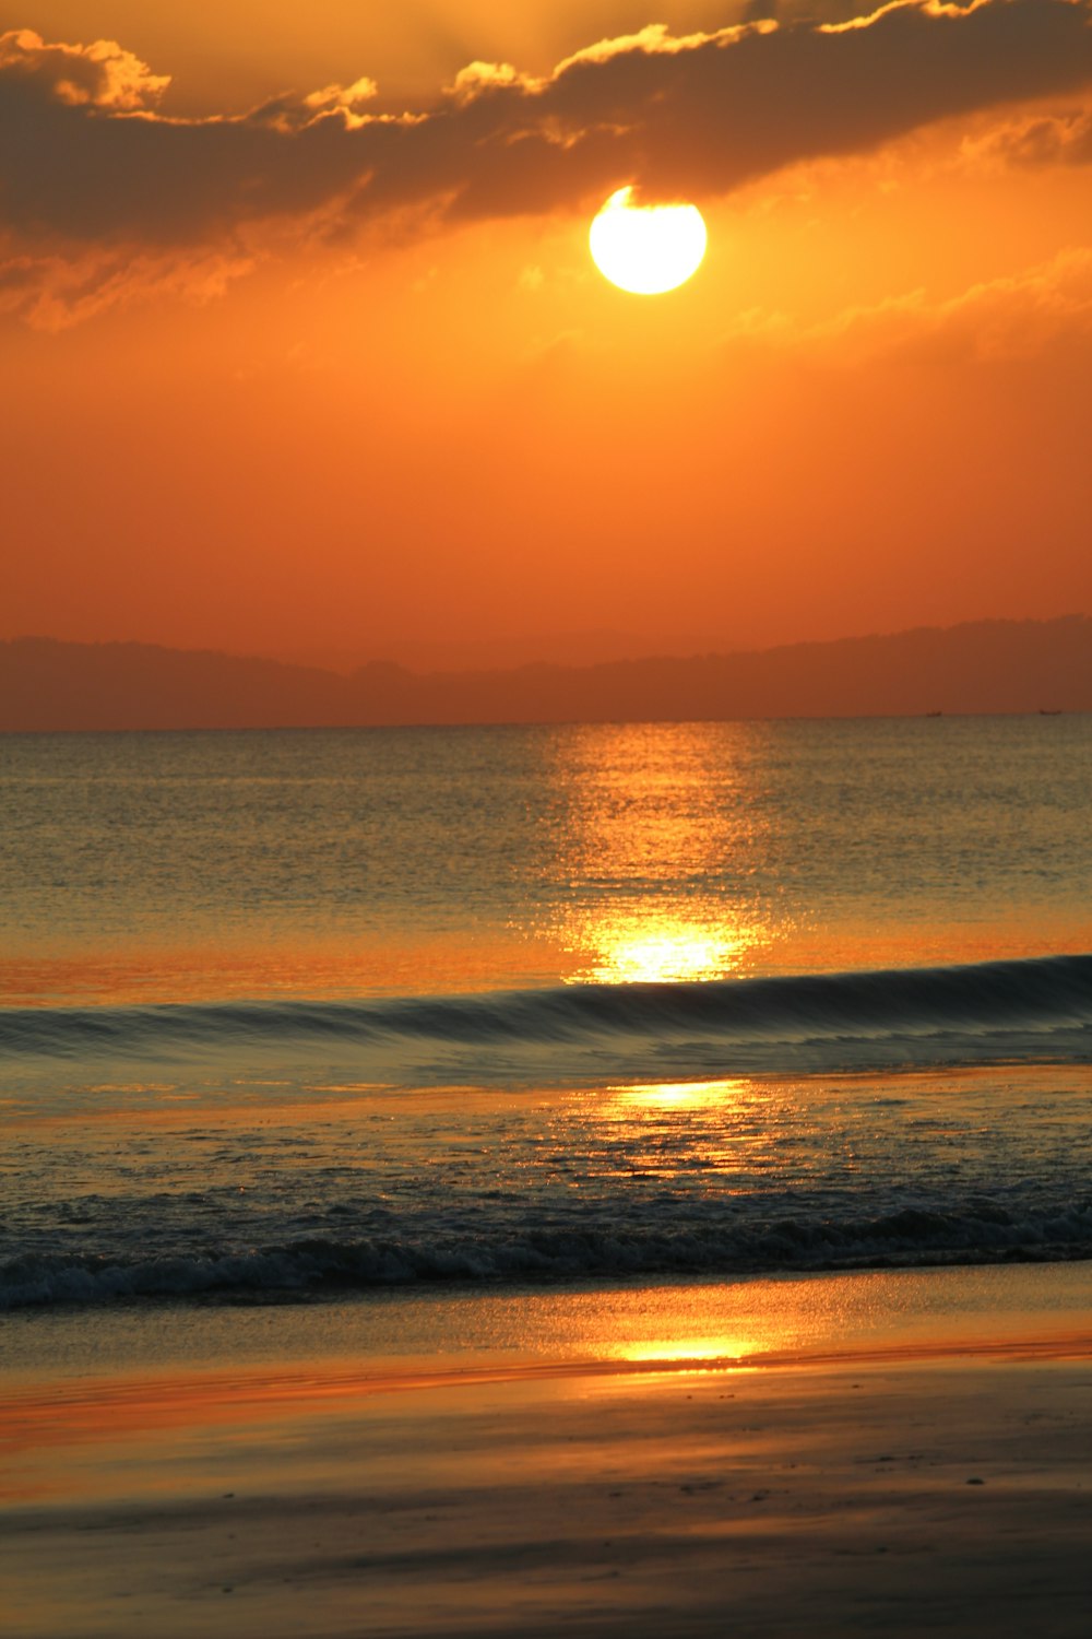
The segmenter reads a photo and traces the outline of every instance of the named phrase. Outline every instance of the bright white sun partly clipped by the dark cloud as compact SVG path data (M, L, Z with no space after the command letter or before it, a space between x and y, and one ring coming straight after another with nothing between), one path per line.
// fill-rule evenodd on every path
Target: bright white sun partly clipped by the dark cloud
M639 297L675 290L706 254L706 223L696 205L634 205L619 188L591 225L591 259L612 285Z

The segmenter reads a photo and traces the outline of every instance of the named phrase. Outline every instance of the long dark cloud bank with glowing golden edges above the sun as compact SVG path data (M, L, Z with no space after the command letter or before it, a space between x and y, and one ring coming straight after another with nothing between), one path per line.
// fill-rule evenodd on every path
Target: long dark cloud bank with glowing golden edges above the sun
M761 8L760 8L761 10ZM725 193L786 164L1092 80L1092 0L896 3L822 26L650 28L545 80L476 64L434 108L370 115L373 87L244 118L169 120L165 85L113 43L0 36L0 223L18 239L193 244L326 210L545 213L639 182Z

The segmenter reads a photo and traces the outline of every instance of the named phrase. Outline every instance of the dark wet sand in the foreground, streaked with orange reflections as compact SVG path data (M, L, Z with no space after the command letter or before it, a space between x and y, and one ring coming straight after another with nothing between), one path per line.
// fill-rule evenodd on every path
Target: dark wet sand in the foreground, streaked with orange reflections
M1090 1333L2 1398L11 1639L1087 1632Z

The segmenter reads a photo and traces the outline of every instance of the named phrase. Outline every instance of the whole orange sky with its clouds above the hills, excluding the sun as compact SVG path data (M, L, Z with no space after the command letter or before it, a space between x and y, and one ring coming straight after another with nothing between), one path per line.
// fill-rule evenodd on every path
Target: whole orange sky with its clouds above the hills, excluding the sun
M7 5L0 636L1092 611L1087 0L653 10ZM588 257L630 180L707 220L665 297Z

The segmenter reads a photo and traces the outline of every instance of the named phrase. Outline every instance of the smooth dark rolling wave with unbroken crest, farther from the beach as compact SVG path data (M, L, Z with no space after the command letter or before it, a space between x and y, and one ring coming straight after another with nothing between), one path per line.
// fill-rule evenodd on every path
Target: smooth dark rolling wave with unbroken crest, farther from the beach
M15 1008L0 1054L23 1059L268 1057L359 1049L424 1083L462 1060L475 1077L550 1062L562 1077L660 1069L701 1049L740 1069L860 1067L1092 1056L1092 956L964 967L804 974L694 983L563 985L468 997L244 1001L170 1006ZM689 1049L689 1054L688 1054ZM437 1057L439 1056L439 1057Z

